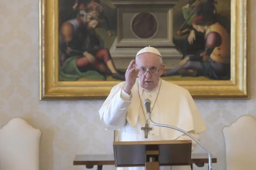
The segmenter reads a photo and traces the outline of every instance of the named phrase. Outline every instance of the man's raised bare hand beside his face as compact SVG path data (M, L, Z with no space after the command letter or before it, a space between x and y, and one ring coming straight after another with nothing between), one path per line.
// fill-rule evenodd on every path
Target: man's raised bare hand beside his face
M135 59L133 59L128 68L127 71L125 73L125 87L123 88L123 90L128 93L131 94L131 89L134 86L136 79L138 78L138 74L140 69L136 70L136 65L135 65Z

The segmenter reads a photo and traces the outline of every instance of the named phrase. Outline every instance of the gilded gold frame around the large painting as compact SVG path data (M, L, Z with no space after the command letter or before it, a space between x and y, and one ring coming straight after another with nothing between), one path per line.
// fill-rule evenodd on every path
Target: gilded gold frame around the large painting
M173 81L194 99L250 99L250 5L231 0L231 79ZM58 0L40 0L40 100L105 99L117 81L58 81Z

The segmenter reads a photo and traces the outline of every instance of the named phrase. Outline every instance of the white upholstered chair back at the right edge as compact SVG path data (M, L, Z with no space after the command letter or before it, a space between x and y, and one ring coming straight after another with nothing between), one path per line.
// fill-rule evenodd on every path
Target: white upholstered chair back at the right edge
M222 131L226 145L226 170L256 170L256 119L243 115Z

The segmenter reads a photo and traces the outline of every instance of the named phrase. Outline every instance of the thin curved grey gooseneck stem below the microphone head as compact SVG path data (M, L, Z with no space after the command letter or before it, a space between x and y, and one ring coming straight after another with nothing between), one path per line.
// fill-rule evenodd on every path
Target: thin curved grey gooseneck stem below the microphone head
M155 125L155 126L160 126L160 127L169 127L171 129L175 129L175 130L178 130L184 134L186 134L187 136L191 137L195 142L197 142L201 147L204 148L204 150L207 152L208 154L208 158L209 158L209 170L212 170L212 156L211 156L211 153L209 152L209 150L203 145L201 144L201 142L199 142L197 139L195 139L194 136L190 135L189 133L187 133L186 131L180 129L180 128L177 128L177 127L174 127L174 126L169 126L169 125L162 125L162 124L158 124L158 123L155 123L151 120L151 116L150 116L150 112L147 113L148 115L148 120L149 122L152 124L152 125Z

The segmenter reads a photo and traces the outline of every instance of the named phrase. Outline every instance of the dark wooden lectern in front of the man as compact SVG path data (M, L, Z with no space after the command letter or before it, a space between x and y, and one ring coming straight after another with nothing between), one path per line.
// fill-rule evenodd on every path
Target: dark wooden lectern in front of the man
M113 142L116 167L191 165L191 140Z

